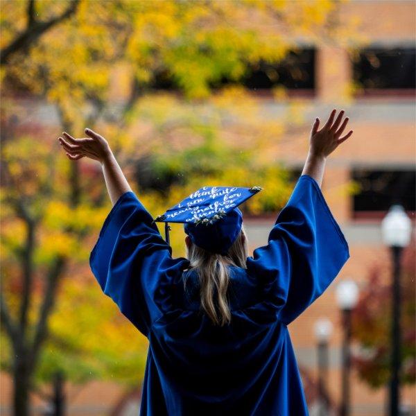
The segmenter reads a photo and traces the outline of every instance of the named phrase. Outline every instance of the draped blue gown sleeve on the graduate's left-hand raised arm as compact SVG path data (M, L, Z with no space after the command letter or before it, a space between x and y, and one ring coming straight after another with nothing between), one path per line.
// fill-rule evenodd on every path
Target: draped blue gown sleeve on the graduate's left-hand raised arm
M171 254L152 216L128 191L105 218L89 256L105 295L146 337L153 322L169 309L171 282L189 263Z

